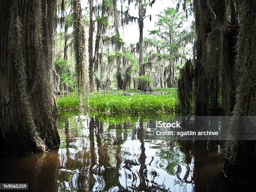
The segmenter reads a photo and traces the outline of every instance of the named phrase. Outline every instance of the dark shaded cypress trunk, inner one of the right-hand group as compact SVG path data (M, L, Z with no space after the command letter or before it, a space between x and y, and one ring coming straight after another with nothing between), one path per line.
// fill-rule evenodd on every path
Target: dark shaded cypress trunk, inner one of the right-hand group
M194 0L194 8L197 33L195 115L208 115L209 111L218 114L219 73L220 67L223 66L225 1Z

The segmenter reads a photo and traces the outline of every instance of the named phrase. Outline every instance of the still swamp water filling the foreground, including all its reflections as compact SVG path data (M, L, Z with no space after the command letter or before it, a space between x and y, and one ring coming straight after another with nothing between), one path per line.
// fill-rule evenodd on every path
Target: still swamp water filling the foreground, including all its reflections
M32 192L252 191L223 176L223 143L156 139L153 123L150 116L60 113L60 147L1 156L0 182L28 183Z

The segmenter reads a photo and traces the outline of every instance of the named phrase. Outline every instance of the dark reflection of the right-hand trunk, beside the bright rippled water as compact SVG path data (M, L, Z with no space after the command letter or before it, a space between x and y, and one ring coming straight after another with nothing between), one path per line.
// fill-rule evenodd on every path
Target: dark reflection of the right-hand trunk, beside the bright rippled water
M194 164L193 170L187 166L184 178L179 179L187 183L193 182L195 191L211 191L212 185L209 183L218 183L214 191L221 191L223 186L220 183L223 183L224 179L222 177L224 157L221 154L216 155L220 144L219 141L179 141L180 149L186 156L186 164L190 166L191 163ZM179 167L177 172L180 171ZM193 174L192 181L188 180L190 171Z

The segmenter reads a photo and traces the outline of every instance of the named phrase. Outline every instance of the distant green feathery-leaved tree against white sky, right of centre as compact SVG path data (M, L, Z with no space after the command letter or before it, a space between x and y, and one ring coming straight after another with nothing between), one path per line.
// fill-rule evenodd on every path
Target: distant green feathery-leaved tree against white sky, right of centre
M185 15L174 8L166 8L159 15L156 23L156 30L150 31L150 34L157 35L165 43L161 44L161 49L165 49L165 55L169 60L169 77L167 77L167 87L175 87L175 77L177 73L178 59L184 59L181 47L192 41L192 28L184 28ZM167 56L169 55L169 56Z

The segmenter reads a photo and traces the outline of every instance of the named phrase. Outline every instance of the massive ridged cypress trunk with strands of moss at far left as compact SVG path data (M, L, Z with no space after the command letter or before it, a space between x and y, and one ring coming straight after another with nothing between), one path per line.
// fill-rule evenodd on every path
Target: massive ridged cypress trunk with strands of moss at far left
M54 126L53 41L56 0L0 5L0 152L59 145Z

